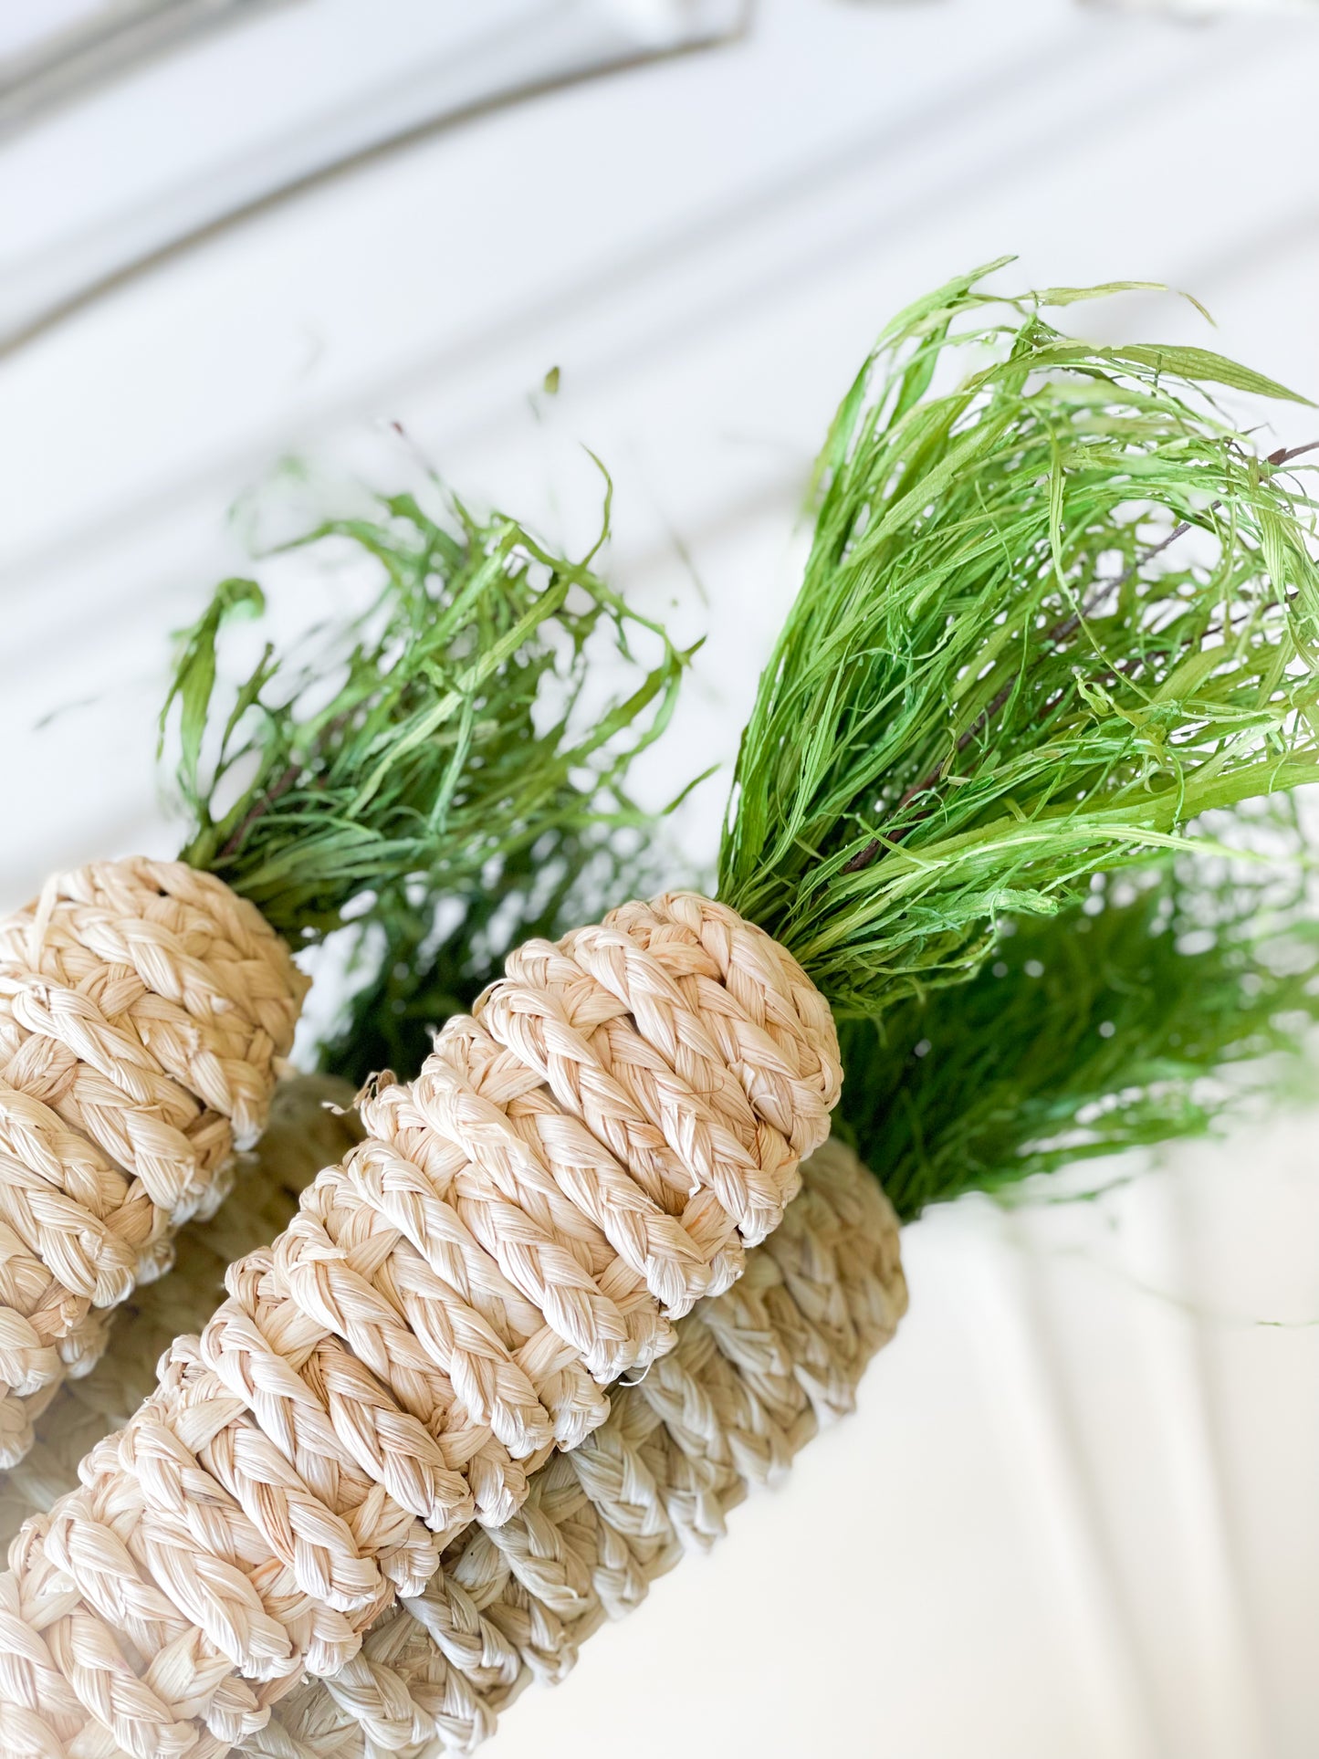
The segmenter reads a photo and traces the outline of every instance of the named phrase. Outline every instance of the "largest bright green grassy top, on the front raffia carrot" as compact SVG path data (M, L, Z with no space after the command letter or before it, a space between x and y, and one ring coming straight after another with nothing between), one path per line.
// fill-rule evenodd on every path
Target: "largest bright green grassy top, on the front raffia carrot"
M1319 774L1314 501L1205 387L1291 394L1075 341L1041 308L1115 288L992 299L997 267L897 317L844 399L742 739L719 897L837 1013Z

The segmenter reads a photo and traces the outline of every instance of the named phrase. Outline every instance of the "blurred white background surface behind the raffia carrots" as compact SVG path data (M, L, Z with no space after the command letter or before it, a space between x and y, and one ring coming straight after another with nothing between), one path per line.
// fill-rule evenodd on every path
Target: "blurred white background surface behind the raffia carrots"
M397 420L580 540L600 452L614 575L709 631L658 800L732 756L814 447L929 285L1166 280L1215 336L1171 297L1090 322L1319 398L1317 77L1312 4L7 0L0 902L169 851L165 635L287 457L389 485ZM494 1752L1310 1759L1312 1129L909 1230L860 1414Z

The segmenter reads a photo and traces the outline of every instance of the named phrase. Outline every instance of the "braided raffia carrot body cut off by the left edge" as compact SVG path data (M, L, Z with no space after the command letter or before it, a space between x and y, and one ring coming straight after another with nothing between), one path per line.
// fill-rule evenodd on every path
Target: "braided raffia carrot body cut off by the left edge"
M56 874L0 920L0 1465L223 1198L304 992L260 913L179 862Z

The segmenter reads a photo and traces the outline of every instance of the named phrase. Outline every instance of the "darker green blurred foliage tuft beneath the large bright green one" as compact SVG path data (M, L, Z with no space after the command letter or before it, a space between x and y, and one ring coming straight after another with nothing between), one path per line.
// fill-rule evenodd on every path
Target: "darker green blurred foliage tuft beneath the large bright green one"
M1110 885L1085 911L1024 918L973 982L842 1022L835 1128L904 1221L1210 1131L1250 1091L1212 1078L1300 1052L1319 1018L1319 925L1289 911L1261 927L1264 902L1259 883L1164 874L1129 901ZM1256 1089L1270 1084L1275 1066Z

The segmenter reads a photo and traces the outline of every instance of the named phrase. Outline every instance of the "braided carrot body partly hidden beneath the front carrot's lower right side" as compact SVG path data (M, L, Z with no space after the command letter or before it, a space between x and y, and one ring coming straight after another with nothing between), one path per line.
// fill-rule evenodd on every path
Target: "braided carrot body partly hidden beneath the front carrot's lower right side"
M853 1407L907 1305L897 1219L839 1142L802 1173L779 1231L733 1289L681 1321L677 1349L536 1472L512 1522L470 1527L361 1655L285 1699L246 1759L471 1752L529 1680L563 1680L593 1631L711 1546L820 1418Z

